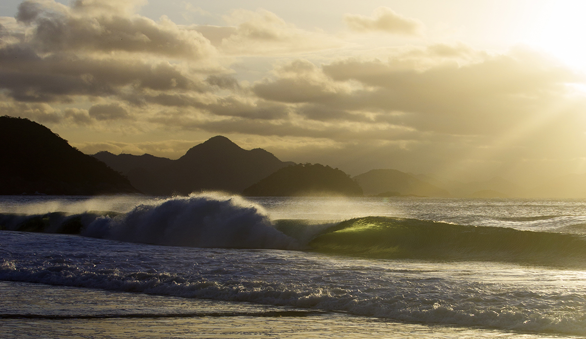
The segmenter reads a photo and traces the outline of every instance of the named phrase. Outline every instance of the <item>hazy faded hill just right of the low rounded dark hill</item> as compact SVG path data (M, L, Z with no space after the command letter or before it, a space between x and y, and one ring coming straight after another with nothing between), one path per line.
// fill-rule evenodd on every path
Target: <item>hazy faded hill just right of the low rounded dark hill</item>
M414 195L425 197L449 197L447 190L423 182L410 174L394 169L376 169L353 178L367 196L379 194Z

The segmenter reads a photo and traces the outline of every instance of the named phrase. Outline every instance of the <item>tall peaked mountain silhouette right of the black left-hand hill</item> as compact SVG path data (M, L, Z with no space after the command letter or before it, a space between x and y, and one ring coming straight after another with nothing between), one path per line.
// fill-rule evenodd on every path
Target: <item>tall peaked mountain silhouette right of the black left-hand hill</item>
M264 149L242 149L224 136L194 146L177 160L108 152L94 156L127 175L137 189L154 195L202 190L241 193L276 170L294 164L282 162Z

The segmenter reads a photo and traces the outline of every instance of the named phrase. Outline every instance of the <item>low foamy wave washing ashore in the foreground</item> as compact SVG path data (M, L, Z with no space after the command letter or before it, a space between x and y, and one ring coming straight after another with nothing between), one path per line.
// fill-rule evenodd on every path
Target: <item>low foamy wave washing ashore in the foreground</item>
M411 323L499 328L501 330L535 331L586 335L581 313L584 295L576 290L565 295L540 295L539 292L492 291L484 283L445 285L440 278L412 277L390 279L389 285L358 289L344 276L339 284L319 285L311 280L281 275L277 279L258 279L222 270L186 275L182 272L155 272L141 266L125 269L100 268L84 265L87 258L68 258L60 264L32 259L0 261L0 279L8 281L46 283L59 286L86 287L118 292L146 293L157 296L252 302L274 306L298 307L292 313L247 313L236 315L254 317L311 316L343 312L360 316L393 319ZM306 264L307 265L307 264ZM287 271L285 271L287 272ZM235 274L236 273L236 274ZM303 274L303 273L301 273ZM363 276L363 273L358 273ZM290 279L283 279L289 277ZM297 279L299 278L299 279ZM496 293L496 294L495 294ZM538 309L539 311L536 311ZM306 312L304 312L304 310ZM325 312L324 312L325 311ZM316 314L312 314L312 313ZM87 319L110 317L165 317L166 315L97 315ZM169 314L169 317L230 316L230 313ZM39 316L19 314L5 319L83 319L83 316ZM2 319L3 316L0 316Z

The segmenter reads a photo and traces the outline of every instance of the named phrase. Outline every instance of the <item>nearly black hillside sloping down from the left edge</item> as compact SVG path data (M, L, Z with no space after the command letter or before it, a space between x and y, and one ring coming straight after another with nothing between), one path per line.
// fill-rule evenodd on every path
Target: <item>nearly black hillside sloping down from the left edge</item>
M128 179L29 119L0 117L0 194L138 193Z

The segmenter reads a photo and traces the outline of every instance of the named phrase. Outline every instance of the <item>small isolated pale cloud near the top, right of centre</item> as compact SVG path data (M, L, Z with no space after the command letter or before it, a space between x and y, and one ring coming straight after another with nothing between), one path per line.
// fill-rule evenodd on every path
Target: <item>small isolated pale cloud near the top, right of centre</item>
M421 35L424 25L421 21L398 15L388 7L379 7L373 15L346 14L344 21L356 32L385 32L407 36Z

